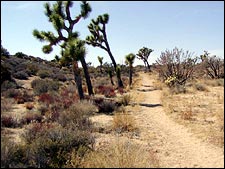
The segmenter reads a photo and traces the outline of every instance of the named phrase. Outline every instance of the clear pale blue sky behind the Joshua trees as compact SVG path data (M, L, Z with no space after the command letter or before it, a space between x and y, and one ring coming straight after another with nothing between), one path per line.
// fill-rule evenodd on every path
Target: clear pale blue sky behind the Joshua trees
M1 1L1 43L11 55L17 52L54 59L60 47L44 54L40 42L32 31L55 32L44 14L48 1ZM53 4L55 1L51 1ZM224 57L224 1L88 1L92 12L74 26L81 39L90 32L87 26L91 19L108 13L106 33L111 52L118 64L124 64L125 56L137 54L142 47L154 51L149 63L155 63L161 52L175 47L199 56L208 51L211 55ZM80 1L74 2L72 16L80 11ZM111 63L106 51L86 45L86 61L98 66L97 56ZM134 65L143 65L135 59Z

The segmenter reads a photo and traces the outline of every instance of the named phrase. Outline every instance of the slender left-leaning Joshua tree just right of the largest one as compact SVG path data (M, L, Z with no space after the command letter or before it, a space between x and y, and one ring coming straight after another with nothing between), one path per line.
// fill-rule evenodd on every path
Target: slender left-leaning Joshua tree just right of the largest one
M109 21L109 15L103 14L99 15L96 20L92 19L91 23L88 25L88 29L91 33L90 36L87 36L86 43L92 45L93 47L99 47L105 50L110 59L112 60L112 64L114 67L114 71L116 72L117 64L112 55L112 52L109 47L109 43L106 35L106 24ZM123 82L121 80L121 76L117 76L118 87L123 87Z

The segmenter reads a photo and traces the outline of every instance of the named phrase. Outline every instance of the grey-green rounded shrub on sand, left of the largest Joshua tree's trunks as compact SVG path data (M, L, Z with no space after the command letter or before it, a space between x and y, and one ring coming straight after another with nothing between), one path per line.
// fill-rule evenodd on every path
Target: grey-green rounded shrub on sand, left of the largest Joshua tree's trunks
M36 95L40 95L48 91L58 91L59 83L48 79L35 79L31 82L31 87Z

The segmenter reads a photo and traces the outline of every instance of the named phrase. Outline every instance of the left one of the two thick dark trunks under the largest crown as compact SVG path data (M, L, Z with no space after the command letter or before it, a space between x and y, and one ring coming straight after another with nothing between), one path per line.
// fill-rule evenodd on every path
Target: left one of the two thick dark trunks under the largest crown
M77 85L77 91L80 97L80 100L84 99L84 92L82 88L82 79L80 75L80 70L78 69L78 63L74 62L73 64L73 73L74 73L74 80Z

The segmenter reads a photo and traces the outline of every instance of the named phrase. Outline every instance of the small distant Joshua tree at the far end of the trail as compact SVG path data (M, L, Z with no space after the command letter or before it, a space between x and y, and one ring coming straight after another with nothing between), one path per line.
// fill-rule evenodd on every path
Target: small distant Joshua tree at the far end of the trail
M150 65L148 63L148 57L153 52L152 49L149 49L147 47L143 47L138 51L137 58L143 60L145 64L145 68L147 68L148 71L151 71Z

